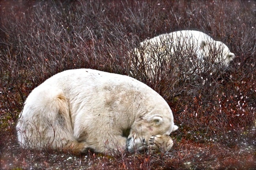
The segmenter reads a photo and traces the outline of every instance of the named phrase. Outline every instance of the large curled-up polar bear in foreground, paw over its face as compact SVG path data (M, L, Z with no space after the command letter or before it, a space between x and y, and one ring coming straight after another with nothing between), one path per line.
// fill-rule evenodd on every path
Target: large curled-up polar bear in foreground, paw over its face
M24 148L168 151L178 127L166 101L136 79L91 69L60 72L26 99L17 124ZM125 135L128 131L127 136Z

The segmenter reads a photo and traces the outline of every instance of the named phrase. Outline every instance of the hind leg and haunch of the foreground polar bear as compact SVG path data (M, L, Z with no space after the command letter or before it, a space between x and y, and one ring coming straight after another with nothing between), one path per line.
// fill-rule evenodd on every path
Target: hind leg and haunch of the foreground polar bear
M23 148L85 150L85 144L73 137L68 101L60 89L34 89L26 100L17 131Z

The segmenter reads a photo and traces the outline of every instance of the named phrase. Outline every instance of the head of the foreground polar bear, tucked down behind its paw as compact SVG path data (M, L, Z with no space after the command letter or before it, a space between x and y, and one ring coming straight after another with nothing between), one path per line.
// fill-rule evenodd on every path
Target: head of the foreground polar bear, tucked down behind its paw
M158 100L153 105L147 103L147 108L143 109L144 113L137 115L131 126L126 141L128 152L147 148L149 139L154 135L169 135L178 129L174 125L172 111L164 100Z

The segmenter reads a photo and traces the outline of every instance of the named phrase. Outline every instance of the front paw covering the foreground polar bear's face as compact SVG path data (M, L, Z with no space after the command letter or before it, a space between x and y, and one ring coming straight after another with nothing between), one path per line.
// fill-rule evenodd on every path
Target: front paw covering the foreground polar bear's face
M169 135L154 135L149 139L148 152L168 152L173 146L173 140Z

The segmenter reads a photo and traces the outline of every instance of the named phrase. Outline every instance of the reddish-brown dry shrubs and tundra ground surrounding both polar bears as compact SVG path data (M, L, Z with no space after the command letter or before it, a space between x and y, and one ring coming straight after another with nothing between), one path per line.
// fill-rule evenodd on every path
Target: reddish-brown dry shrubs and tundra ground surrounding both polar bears
M254 169L254 1L0 1L1 169ZM15 122L26 96L57 72L93 68L130 74L128 51L148 37L200 30L235 53L230 70L173 84L173 74L134 77L169 103L179 130L167 154L24 150Z

